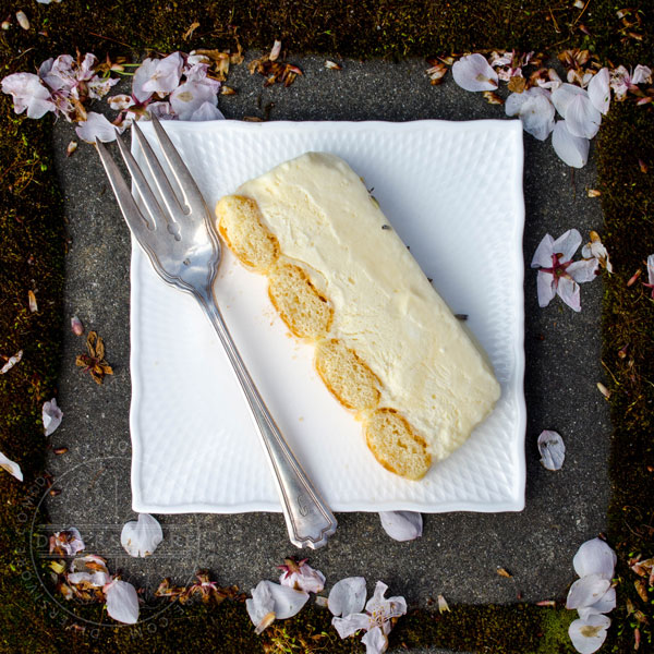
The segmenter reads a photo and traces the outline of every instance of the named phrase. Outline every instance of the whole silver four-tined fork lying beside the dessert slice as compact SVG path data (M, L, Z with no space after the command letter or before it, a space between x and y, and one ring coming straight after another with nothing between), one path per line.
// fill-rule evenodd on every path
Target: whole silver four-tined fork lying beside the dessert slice
M132 126L132 134L143 150L160 201L118 134L117 141L147 216L136 205L107 148L96 140L102 166L128 227L155 270L169 284L191 293L216 329L268 455L291 543L315 549L325 545L336 531L336 518L291 452L234 346L214 298L214 282L221 257L220 241L210 227L208 208L189 169L155 117L153 125L164 157L181 190L181 202L136 123Z

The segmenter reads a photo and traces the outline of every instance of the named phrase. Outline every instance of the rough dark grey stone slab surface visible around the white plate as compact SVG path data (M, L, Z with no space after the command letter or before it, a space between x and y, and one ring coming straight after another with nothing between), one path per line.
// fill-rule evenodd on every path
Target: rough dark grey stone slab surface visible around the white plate
M264 88L263 78L235 66L229 85L235 96L221 96L228 118L270 120L472 120L504 118L480 94L467 93L451 78L432 86L425 63L344 61L343 70L324 68L324 59L293 61L304 76L283 88ZM266 109L266 107L269 109ZM113 116L98 104L98 109ZM130 559L120 547L124 521L134 519L130 497L130 239L97 155L81 144L70 158L65 146L73 126L60 121L53 148L66 198L68 234L65 319L77 315L87 329L105 338L114 375L96 386L75 367L84 338L65 328L59 380L64 421L51 437L66 455L51 456L49 470L62 494L48 497L51 524L41 531L76 525L87 550L106 555L112 570L145 586L146 600L164 577L185 582L196 568L210 568L222 583L249 590L258 580L275 579L275 566L293 554L281 514L157 516L165 540L153 557ZM524 138L526 223L524 257L546 232L555 238L569 228L584 237L601 229L594 160L572 171L555 155L550 142ZM435 170L434 174L438 174ZM497 170L497 184L504 183ZM492 198L489 198L492 202ZM470 253L474 256L474 252ZM501 265L501 252L497 253ZM528 426L526 508L520 513L449 513L425 516L424 535L411 543L391 541L376 513L341 513L336 536L308 553L311 564L327 576L328 586L347 576L364 576L370 589L377 579L411 605L426 606L444 594L456 603L511 603L565 596L574 579L578 546L606 525L609 497L607 405L595 387L604 378L600 359L602 282L582 287L576 314L556 299L538 308L536 274L525 275L525 396ZM536 438L542 429L558 431L567 446L559 472L538 462ZM162 480L165 483L165 480ZM510 579L497 574L504 567Z

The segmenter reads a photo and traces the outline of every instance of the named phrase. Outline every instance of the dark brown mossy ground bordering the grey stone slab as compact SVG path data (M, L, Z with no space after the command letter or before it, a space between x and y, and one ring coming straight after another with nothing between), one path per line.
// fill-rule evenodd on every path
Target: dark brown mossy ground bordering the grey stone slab
M571 2L480 1L391 3L385 0L337 1L319 4L277 0L267 2L144 0L112 3L64 0L49 5L26 3L29 31L13 27L0 34L0 73L35 71L51 56L93 51L98 57L147 50L189 51L194 47L228 48L239 39L247 48L267 48L275 38L295 52L325 52L360 58L433 56L448 52L517 48L556 55L569 47L588 47L604 61L633 65L652 63L654 34L647 2L632 3L638 21L623 28L617 7L592 2L582 12ZM0 17L13 16L14 3L0 3ZM183 34L199 22L192 37ZM629 34L631 33L631 34ZM649 61L650 60L650 61ZM600 175L606 216L605 242L616 272L606 281L604 363L614 378L611 411L616 428L611 457L614 499L609 540L620 557L618 609L607 646L631 651L633 616L626 601L649 615L652 609L633 589L627 568L630 553L654 554L652 501L654 457L654 301L640 280L627 279L643 268L654 252L654 112L623 104L611 108L600 133ZM0 353L23 349L23 361L0 376L0 451L19 461L25 474L20 484L0 475L0 649L7 652L177 652L203 649L220 652L351 652L354 639L339 641L325 610L306 608L258 639L242 603L203 605L170 610L167 621L138 627L84 629L65 619L29 578L28 530L24 514L34 489L43 491L45 443L40 404L56 392L62 328L61 302L65 250L62 198L49 153L49 119L32 121L13 113L11 100L0 97ZM644 172L639 159L650 172ZM27 308L35 292L38 312ZM618 352L627 346L627 356ZM633 361L633 363L630 363ZM27 572L27 574L26 574ZM229 580L221 580L229 583ZM651 605L650 605L651 606ZM180 609L182 607L179 607ZM100 606L85 609L101 621ZM647 613L649 611L649 613ZM83 614L82 614L83 615ZM402 619L391 645L433 644L455 650L494 653L570 652L567 627L573 615L533 606L452 607L443 616L414 611ZM105 619L107 622L108 620ZM641 625L643 646L651 647L651 627ZM647 644L647 639L650 639Z

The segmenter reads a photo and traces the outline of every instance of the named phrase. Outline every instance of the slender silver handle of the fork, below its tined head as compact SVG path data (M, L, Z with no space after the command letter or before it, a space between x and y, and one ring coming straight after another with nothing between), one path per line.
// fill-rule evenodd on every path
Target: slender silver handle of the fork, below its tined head
M237 350L213 293L207 295L199 298L199 303L218 334L247 400L262 445L272 468L291 543L312 549L322 547L336 531L336 518L283 439Z

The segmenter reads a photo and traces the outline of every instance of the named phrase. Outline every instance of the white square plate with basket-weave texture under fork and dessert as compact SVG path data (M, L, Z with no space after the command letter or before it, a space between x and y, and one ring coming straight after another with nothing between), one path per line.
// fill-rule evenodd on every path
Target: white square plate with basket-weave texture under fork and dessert
M524 506L522 129L520 121L166 122L209 208L308 150L346 159L494 365L502 393L463 447L421 482L384 470L361 425L288 334L263 277L227 249L216 296L281 432L336 511L511 511ZM152 125L144 133L154 141ZM153 143L155 149L156 145ZM135 145L132 149L140 159ZM133 508L280 511L226 355L195 301L161 281L133 243Z

